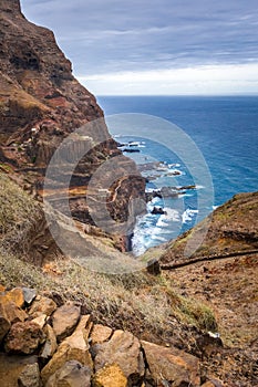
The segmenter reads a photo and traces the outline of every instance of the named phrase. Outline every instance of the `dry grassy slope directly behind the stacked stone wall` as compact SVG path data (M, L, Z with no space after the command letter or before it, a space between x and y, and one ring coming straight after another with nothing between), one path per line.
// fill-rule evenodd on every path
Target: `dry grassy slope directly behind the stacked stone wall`
M0 175L0 187L1 284L58 292L80 301L97 322L130 330L155 342L183 343L187 335L184 324L204 330L216 327L210 310L176 294L173 283L163 274L152 276L144 270L120 275L100 274L61 254L42 268L25 262L25 251L11 249L12 241L25 238L28 228L37 221L39 203L4 175ZM97 251L102 249L106 253L110 249L101 241L95 243Z

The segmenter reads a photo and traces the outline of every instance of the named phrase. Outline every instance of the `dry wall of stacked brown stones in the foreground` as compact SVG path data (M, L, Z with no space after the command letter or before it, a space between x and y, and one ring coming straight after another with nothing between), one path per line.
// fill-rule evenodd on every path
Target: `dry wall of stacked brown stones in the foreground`
M18 292L23 290L6 291L3 295L9 299ZM173 346L141 342L130 332L93 324L91 315L81 315L72 303L59 306L48 318L37 307L40 326L37 318L29 317L34 314L40 297L32 304L23 304L28 316L24 322L9 322L7 327L0 320L3 333L0 345L8 353L7 356L0 352L0 379L4 386L200 386L197 357ZM42 297L44 305L51 304L45 299ZM56 322L70 326L64 330L65 335L56 336Z

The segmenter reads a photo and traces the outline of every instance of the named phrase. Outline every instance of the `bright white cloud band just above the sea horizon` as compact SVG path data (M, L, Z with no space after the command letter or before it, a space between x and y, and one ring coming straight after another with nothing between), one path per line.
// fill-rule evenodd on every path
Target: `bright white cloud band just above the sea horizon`
M258 63L80 76L96 95L258 94Z

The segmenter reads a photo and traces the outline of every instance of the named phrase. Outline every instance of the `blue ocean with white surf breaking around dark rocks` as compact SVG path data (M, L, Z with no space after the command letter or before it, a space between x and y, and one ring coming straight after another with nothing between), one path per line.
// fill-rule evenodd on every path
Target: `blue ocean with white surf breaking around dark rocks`
M120 136L109 126L121 149L137 163L147 179L147 212L138 217L132 240L136 255L176 238L235 194L258 190L257 96L101 96L97 100L106 116L133 113L169 122L186 135L186 142L193 143L205 160L203 171L202 158L195 160L194 155L188 155L193 163L187 159L187 147L185 157L178 156L176 140L173 149L166 147L158 124L154 129L156 139L146 136L147 124L144 130L140 125L133 137L126 130ZM195 167L199 175L207 172L210 178L196 178ZM211 199L204 199L200 205L198 197Z

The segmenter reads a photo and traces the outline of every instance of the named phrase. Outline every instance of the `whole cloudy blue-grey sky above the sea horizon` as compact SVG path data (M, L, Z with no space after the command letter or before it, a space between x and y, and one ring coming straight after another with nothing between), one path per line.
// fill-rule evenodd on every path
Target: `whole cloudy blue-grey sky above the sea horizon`
M95 95L258 95L257 0L21 0Z

